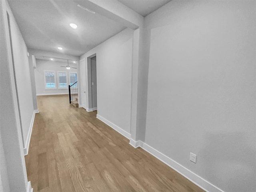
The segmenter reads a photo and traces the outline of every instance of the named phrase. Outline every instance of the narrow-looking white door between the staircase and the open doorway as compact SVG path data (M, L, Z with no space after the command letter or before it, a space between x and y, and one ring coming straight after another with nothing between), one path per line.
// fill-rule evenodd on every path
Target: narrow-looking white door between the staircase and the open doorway
M85 59L80 60L80 77L81 77L81 101L82 107L86 109L86 72L85 72Z

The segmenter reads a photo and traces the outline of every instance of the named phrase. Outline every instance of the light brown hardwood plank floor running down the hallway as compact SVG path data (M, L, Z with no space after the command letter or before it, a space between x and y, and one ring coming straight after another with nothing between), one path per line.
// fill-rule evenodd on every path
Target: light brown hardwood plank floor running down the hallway
M28 155L34 192L203 192L86 112L68 95L38 96Z

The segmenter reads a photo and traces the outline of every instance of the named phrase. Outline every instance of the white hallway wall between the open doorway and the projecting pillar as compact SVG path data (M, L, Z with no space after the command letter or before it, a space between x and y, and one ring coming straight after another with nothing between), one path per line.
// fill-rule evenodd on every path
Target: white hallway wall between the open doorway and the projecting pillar
M132 38L133 30L123 30L80 56L80 60L85 58L87 69L87 57L96 53L98 115L128 133L131 113ZM85 74L87 71L80 72L80 75Z

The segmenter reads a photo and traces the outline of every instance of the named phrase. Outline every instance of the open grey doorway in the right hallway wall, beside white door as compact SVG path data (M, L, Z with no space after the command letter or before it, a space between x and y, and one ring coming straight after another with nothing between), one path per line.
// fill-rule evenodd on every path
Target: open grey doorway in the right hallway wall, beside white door
M96 54L87 58L88 111L97 110L97 59Z

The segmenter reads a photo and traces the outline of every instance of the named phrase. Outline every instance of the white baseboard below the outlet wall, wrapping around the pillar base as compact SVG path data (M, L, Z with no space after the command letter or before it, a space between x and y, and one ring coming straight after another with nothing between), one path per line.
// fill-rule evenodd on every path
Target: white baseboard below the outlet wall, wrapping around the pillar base
M210 182L206 181L204 178L188 170L186 167L172 160L168 156L162 154L158 150L152 148L148 144L140 140L134 141L133 139L130 139L130 145L132 145L134 148L141 147L146 152L152 154L154 157L162 161L164 164L168 165L170 168L174 169L176 172L178 172L179 174L181 174L182 176L184 176L185 178L187 178L192 183L196 184L198 187L202 188L206 192L224 192L220 188L214 186Z

